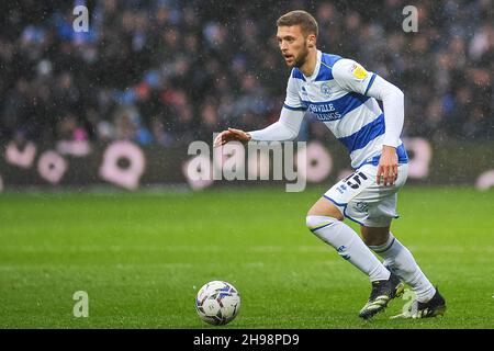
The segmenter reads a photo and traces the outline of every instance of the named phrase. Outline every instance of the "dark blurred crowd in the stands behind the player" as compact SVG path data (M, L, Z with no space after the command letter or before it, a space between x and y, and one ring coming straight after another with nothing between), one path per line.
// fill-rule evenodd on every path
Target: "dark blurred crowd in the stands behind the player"
M411 2L411 3L408 3ZM89 32L75 32L76 5ZM418 32L402 29L418 9ZM8 1L0 140L132 139L173 147L278 120L290 69L276 20L304 9L317 46L405 93L405 136L492 139L494 1ZM328 138L306 118L301 139Z

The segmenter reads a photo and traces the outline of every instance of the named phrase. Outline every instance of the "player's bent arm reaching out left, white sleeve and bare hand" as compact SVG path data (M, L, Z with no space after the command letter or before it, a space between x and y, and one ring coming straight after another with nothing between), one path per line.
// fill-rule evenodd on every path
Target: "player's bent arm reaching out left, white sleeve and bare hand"
M304 118L305 107L300 99L296 81L290 77L287 87L287 98L281 109L280 118L263 129L244 132L228 128L217 135L214 146L221 146L232 140L247 143L249 140L285 141L297 137Z

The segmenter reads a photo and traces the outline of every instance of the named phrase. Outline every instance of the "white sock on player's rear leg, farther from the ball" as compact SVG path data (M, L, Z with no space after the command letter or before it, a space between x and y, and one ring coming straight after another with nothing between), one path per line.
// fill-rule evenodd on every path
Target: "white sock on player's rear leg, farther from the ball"
M412 252L391 233L385 244L369 246L369 248L384 259L384 265L412 286L420 303L428 302L436 294L436 288L422 272Z

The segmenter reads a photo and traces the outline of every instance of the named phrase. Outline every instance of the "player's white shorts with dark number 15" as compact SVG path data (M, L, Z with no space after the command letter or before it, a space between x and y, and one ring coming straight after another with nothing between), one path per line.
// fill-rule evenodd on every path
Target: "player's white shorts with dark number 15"
M363 165L323 196L333 202L345 217L364 227L388 227L393 218L398 217L397 192L406 182L408 165L398 165L398 177L392 186L378 185L377 174L378 166Z

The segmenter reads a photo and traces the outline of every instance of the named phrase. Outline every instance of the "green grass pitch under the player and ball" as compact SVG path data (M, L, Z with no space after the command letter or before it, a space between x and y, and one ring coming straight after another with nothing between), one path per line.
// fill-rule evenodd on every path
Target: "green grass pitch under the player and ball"
M447 298L442 318L358 318L370 283L305 227L324 192L0 195L0 328L493 328L494 192L405 186L393 233ZM352 225L355 228L357 226ZM234 284L238 317L201 321L200 286ZM76 291L89 317L72 315Z

